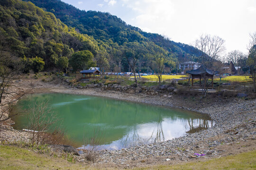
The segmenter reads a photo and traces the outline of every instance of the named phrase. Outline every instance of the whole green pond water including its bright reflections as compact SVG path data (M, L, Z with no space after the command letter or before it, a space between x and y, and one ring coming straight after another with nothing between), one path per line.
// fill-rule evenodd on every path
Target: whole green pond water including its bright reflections
M90 145L83 145L84 141L95 134L101 136L101 149L120 149L171 140L213 124L209 117L195 112L75 94L33 94L16 107L26 110L41 102L48 102L62 119L68 139L85 148ZM27 128L27 114L19 114L14 121L15 128Z

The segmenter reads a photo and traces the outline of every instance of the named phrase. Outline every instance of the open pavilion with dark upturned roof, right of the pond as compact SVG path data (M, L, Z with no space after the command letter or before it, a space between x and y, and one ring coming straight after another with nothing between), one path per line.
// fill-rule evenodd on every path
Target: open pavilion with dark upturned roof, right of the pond
M204 66L201 66L200 68L187 71L186 73L188 73L192 76L192 86L193 86L194 78L199 78L200 79L200 85L201 85L201 78L202 77L207 77L207 78L211 78L211 86L213 87L213 76L215 74L218 74L219 71L210 70L208 68L205 68Z

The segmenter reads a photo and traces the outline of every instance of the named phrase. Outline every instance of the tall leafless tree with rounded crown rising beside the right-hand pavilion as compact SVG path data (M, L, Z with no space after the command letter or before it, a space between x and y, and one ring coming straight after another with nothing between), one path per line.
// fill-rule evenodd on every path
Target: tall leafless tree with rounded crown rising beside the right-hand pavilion
M219 36L211 36L209 34L201 35L195 42L195 48L200 50L201 68L204 70L202 78L204 79L204 87L202 93L206 95L209 77L206 74L206 69L214 70L213 62L219 59L220 55L225 51L225 41Z

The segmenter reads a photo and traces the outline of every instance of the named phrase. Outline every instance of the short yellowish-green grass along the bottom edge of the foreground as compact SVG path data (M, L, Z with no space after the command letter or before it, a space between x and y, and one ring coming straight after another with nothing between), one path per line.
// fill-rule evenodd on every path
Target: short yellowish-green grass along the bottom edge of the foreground
M105 169L106 167L104 167ZM151 166L136 168L135 170L225 170L241 169L250 170L256 168L256 151L240 153L211 159L195 161L177 165ZM79 170L93 169L80 163L70 163L64 159L46 157L34 153L28 149L16 146L0 145L0 169L1 170Z

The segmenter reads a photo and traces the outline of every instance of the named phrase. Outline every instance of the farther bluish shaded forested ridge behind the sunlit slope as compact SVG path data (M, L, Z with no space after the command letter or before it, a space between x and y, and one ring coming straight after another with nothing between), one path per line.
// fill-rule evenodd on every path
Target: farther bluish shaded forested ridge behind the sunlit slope
M53 12L64 24L75 27L81 34L93 36L110 54L110 68L118 64L114 59L116 52L122 50L128 42L138 42L146 46L146 49L152 49L152 47L148 47L148 45L152 46L152 43L163 47L172 54L172 57L169 58L169 61L172 62L166 62L166 67L174 68L175 63L190 60L190 58L197 60L199 55L198 50L190 45L170 41L159 34L143 32L137 27L127 25L120 18L110 13L80 10L61 0L29 1L35 3L38 7ZM148 63L146 59L143 59L142 65L145 69L146 63ZM122 69L127 69L125 63L122 63L122 66Z

